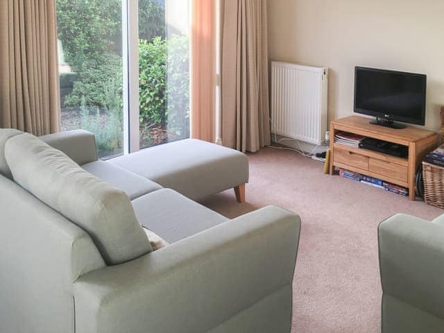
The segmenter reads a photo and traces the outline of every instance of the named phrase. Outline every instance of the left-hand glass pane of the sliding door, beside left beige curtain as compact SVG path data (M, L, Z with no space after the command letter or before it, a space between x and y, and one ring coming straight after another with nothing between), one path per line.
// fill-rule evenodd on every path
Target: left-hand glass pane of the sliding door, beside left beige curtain
M62 130L96 135L99 157L123 153L122 0L56 0Z

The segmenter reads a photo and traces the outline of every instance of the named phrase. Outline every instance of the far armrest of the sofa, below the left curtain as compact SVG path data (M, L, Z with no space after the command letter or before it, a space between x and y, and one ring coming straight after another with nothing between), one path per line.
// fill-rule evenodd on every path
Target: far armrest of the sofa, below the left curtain
M40 137L46 144L67 154L79 165L97 160L96 139L86 130L69 130Z

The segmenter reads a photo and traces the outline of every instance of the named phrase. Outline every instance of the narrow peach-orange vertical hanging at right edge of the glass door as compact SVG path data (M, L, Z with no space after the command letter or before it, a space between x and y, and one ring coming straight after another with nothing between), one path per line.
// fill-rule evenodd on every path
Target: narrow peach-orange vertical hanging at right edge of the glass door
M214 134L216 83L215 0L193 0L191 15L191 137L209 142Z

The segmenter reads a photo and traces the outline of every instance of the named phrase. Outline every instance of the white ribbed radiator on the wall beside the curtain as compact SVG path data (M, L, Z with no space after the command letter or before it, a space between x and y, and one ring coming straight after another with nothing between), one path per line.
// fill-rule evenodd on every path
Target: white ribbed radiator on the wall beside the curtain
M321 144L327 130L328 69L271 62L271 133Z

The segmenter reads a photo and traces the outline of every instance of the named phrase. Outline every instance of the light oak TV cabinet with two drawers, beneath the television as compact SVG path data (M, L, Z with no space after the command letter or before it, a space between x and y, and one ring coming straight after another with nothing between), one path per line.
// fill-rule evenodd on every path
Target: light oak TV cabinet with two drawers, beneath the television
M334 167L339 167L379 178L407 187L410 200L415 200L416 170L425 155L436 148L437 133L411 126L400 130L387 128L372 124L370 120L365 117L350 116L330 123L330 175L334 173ZM335 143L334 133L338 131L402 144L409 147L409 156L395 157Z

